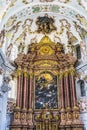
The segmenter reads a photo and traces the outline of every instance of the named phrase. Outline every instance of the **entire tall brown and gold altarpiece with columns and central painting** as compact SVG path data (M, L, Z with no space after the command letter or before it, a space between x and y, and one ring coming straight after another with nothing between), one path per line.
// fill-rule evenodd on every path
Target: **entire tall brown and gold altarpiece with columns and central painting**
M17 101L11 130L83 130L75 90L76 59L48 36L15 59Z

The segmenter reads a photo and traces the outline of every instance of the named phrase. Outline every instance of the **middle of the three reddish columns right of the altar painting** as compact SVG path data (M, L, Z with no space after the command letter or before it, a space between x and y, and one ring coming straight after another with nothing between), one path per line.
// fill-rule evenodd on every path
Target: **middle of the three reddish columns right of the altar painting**
M70 107L70 90L69 90L69 71L65 69L64 72L64 88L65 88L65 107L66 107L66 129L71 129L72 124L72 112Z

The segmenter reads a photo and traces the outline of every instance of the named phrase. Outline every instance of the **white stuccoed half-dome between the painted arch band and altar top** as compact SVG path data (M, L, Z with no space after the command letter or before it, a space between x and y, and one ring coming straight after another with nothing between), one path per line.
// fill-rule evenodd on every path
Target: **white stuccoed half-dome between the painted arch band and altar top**
M79 28L79 31L77 31L77 26L75 27L75 24L73 24L69 19L58 18L54 15L52 17L51 15L45 15L41 17L39 16L39 18L41 18L39 19L39 22L37 21L38 15L34 17L35 21L31 19L31 17L28 19L25 18L24 20L20 19L20 21L17 22L15 20L13 22L11 20L12 18L8 21L5 30L6 37L10 39L6 47L7 57L10 57L10 54L12 54L11 51L14 45L17 46L18 53L26 53L28 44L38 42L37 39L40 40L40 37L42 37L44 33L47 33L52 38L52 40L55 41L55 43L63 43L66 53L73 53L72 44L79 40L79 33L81 32L81 29ZM44 21L45 18L46 21ZM53 21L50 21L50 18ZM9 22L11 21L13 25L9 27L9 25L11 25ZM38 26L36 22L38 22ZM41 32L42 30L44 32ZM38 34L37 31L40 31L40 33Z

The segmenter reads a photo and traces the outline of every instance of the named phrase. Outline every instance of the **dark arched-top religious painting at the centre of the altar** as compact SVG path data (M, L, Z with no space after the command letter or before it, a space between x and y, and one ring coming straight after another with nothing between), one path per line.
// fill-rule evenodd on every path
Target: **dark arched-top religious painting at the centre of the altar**
M58 109L57 76L51 72L35 76L35 109Z

